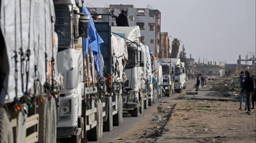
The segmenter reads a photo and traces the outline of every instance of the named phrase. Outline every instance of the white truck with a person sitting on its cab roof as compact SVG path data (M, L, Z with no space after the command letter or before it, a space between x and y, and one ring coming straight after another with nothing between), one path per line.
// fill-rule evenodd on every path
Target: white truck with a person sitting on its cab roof
M138 117L144 108L144 96L141 88L141 74L144 63L141 61L143 45L140 43L140 27L111 27L112 33L125 39L128 62L125 69L127 81L124 88L123 111Z

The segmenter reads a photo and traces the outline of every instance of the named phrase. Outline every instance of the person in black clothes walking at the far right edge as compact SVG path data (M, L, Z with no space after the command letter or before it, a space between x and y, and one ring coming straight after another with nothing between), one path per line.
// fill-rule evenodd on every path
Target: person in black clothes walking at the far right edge
M255 89L255 80L250 76L250 72L245 71L245 81L244 81L244 87L241 90L241 92L239 93L240 95L242 94L242 92L244 92L244 90L246 90L246 102L247 102L247 109L248 112L246 113L250 113L251 112L251 101L250 101L250 96L254 94L254 89Z

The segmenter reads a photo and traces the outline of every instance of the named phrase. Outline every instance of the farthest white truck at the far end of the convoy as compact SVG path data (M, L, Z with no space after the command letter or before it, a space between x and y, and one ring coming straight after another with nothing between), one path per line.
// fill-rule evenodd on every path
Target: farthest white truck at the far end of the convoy
M172 64L175 66L174 76L174 90L175 92L181 93L183 89L186 89L186 69L183 62L180 62L178 58L171 58Z

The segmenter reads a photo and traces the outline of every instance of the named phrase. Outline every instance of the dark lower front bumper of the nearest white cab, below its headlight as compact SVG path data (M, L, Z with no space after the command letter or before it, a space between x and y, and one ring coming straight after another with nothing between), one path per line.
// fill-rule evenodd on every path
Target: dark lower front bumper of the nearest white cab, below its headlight
M78 126L74 127L57 127L57 138L60 137L71 137L72 135L76 135L78 130Z

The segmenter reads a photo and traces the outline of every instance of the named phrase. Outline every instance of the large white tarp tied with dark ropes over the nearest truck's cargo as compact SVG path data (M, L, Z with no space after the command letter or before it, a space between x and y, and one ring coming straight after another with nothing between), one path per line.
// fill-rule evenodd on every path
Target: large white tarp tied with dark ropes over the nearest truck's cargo
M4 90L0 102L22 97L36 79L46 82L53 48L52 18L52 0L1 0L0 28L5 43L1 49L6 49L6 59L1 63Z

